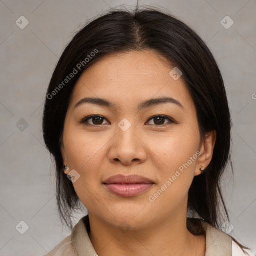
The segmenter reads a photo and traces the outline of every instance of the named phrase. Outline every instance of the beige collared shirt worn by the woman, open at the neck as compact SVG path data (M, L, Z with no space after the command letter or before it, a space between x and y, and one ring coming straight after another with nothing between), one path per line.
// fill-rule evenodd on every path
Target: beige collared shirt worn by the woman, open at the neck
M82 217L72 232L44 256L97 256L86 229L88 216ZM88 223L88 222L87 222ZM226 233L202 220L206 234L205 256L244 256L241 248Z

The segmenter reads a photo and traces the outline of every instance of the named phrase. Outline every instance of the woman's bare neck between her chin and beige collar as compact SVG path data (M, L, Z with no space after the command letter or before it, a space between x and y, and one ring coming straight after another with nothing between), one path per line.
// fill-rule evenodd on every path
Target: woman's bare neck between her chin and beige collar
M205 255L205 236L191 234L186 218L176 214L145 228L121 230L89 212L89 237L99 256Z

